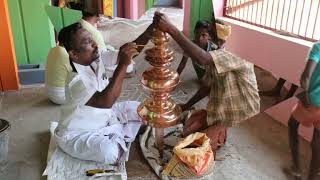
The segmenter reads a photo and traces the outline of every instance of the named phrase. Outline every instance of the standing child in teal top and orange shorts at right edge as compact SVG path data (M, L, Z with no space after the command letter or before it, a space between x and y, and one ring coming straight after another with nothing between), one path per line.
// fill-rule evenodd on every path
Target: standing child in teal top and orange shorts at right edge
M298 128L302 124L314 127L311 142L312 157L308 180L320 179L320 42L313 45L309 52L306 67L301 75L301 87L306 90L295 105L288 121L289 143L293 160L292 175L302 179L299 163Z

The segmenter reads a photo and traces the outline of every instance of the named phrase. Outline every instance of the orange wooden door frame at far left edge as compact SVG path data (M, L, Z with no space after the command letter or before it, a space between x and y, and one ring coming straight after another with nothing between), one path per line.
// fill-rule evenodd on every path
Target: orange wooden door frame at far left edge
M8 0L0 1L0 91L18 90L19 78L9 19Z

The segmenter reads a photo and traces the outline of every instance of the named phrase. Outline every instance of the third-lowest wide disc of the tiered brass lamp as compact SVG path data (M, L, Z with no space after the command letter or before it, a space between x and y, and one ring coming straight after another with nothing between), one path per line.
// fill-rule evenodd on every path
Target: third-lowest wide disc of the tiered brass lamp
M168 48L154 47L146 50L145 59L155 67L169 66L174 60L174 51Z

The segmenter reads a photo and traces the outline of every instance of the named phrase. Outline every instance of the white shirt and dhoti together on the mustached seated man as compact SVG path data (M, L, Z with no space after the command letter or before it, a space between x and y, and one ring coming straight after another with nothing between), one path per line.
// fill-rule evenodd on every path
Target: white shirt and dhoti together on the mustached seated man
M67 104L61 107L55 132L57 144L75 158L108 164L125 161L128 144L134 141L141 125L139 102L120 102L110 109L87 106L95 92L105 89L108 78L101 61L91 67L74 66L77 73L68 77Z

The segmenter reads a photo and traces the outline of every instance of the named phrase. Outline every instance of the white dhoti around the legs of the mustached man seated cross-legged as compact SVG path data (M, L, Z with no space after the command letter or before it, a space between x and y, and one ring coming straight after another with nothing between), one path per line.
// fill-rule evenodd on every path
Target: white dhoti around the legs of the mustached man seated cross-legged
M141 125L136 113L138 105L139 102L134 101L121 102L112 109L102 109L106 114L105 127L88 131L57 131L57 143L63 151L75 158L108 164L125 161L129 153L128 143L134 141ZM88 115L92 119L95 117L89 111ZM108 125L111 122L114 124ZM90 119L87 123L90 124Z

